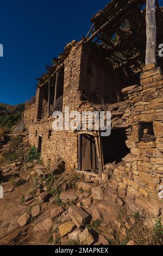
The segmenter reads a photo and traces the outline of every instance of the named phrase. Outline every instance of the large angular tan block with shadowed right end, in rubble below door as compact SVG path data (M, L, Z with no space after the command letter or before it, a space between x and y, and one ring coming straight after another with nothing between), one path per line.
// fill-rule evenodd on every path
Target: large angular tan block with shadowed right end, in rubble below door
M81 225L91 221L91 216L76 205L71 205L68 207L68 214L72 221L76 223L77 227L81 227Z

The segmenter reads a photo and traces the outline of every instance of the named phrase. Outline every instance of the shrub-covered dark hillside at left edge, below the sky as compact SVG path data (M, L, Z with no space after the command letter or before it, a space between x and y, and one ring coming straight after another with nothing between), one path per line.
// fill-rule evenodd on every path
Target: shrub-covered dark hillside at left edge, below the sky
M24 109L24 103L16 106L0 103L0 126L6 130L11 130L12 126L18 124L21 120Z

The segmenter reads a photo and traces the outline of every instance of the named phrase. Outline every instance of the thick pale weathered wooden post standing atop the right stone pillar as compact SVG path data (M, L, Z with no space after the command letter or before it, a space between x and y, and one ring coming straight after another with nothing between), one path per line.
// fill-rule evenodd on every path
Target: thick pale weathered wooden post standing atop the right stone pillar
M147 0L146 4L146 65L156 63L156 20L155 0Z

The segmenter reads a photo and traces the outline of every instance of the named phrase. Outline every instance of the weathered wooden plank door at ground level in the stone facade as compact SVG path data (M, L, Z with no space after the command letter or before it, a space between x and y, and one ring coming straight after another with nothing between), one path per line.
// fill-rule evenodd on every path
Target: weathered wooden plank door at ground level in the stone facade
M80 135L79 170L98 174L98 158L95 137L92 135Z

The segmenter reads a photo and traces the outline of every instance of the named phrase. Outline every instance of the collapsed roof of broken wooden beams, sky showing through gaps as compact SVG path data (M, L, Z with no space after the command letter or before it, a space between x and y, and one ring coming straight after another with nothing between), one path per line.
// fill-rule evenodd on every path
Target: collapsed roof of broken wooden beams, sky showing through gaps
M86 42L98 50L115 68L134 72L145 64L146 0L112 0L92 17ZM157 45L163 39L163 9L156 0ZM160 62L160 58L158 58ZM158 63L159 64L159 63Z

